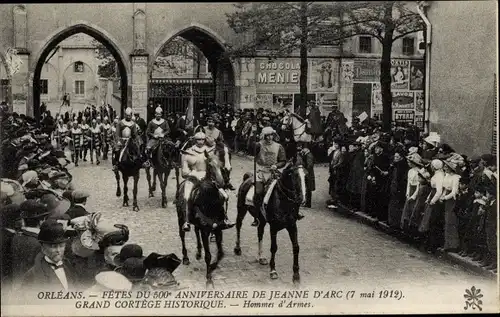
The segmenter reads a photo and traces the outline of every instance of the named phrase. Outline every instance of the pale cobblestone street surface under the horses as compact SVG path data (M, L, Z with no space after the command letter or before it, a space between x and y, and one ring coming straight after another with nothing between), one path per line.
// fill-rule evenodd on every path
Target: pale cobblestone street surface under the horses
M252 169L248 158L233 157L232 181L235 187L241 183L245 172ZM115 196L116 183L109 162L91 165L82 162L72 170L77 188L90 192L89 211L100 211L116 223L126 224L131 232L129 243L143 246L150 252L176 253L182 257L178 234L177 215L172 204L175 179L171 176L167 188L168 207L160 208L160 191L148 198L147 180L141 171L138 193L139 212L132 207L121 207L122 198ZM482 283L494 287L494 282L472 275L463 268L451 265L433 256L399 242L369 226L332 213L324 207L327 199L327 168L316 167L317 190L313 193L313 208L304 209L305 218L299 221L300 268L302 286L402 283L425 287ZM129 197L132 195L132 180L129 181ZM132 202L130 201L130 206ZM229 217L236 220L236 191L230 193ZM292 248L286 231L278 234L276 269L278 280L269 278L268 266L261 266L257 258L256 229L250 226L252 218L247 215L242 227L242 255L236 256L233 248L236 229L224 231L226 257L214 272L216 288L241 288L252 286L288 287L292 281ZM181 265L176 277L181 287L202 288L205 286L204 260L195 259L196 239L193 232L187 234L191 264ZM268 257L269 229L264 235L264 254ZM215 243L211 244L212 248ZM212 252L213 254L214 252Z

